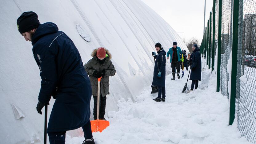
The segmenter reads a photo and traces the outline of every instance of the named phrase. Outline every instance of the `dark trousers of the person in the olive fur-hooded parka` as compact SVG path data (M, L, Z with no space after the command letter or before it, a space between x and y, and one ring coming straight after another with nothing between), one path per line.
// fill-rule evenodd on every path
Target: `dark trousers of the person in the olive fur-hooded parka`
M105 109L106 109L106 99L107 99L107 96L103 97L102 94L100 94L99 118L104 118ZM98 96L93 96L93 100L94 100L93 117L94 117L94 119L97 119L97 100L98 100Z

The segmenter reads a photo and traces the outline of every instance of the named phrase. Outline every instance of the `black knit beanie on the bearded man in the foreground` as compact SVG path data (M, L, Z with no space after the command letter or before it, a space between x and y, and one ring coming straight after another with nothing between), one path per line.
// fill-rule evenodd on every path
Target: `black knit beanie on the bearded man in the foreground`
M37 14L33 11L22 13L17 19L17 26L20 34L33 30L34 28L38 28L40 22L37 18Z

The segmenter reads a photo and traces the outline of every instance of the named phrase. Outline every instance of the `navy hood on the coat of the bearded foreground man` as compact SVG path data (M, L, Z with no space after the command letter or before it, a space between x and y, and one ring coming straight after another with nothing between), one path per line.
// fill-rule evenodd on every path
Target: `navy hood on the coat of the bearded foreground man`
M46 22L44 24L40 24L32 37L32 46L34 46L34 44L43 36L56 33L58 30L58 26L55 23Z

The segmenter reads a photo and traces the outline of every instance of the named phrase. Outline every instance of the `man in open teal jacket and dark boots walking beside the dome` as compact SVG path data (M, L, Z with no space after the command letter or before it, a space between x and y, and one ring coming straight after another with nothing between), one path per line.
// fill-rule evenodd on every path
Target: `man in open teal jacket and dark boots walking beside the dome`
M175 68L177 69L178 79L180 79L180 58L182 56L182 50L177 46L177 42L173 42L173 47L167 52L167 59L169 59L169 55L173 77L171 80L175 80Z

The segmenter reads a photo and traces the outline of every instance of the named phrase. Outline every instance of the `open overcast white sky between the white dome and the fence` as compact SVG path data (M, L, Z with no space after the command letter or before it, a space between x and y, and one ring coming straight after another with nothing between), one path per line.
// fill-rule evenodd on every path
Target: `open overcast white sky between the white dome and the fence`
M185 32L185 42L203 38L204 0L142 0L157 12L177 32ZM206 21L209 19L213 0L206 0ZM183 39L183 34L179 34Z

